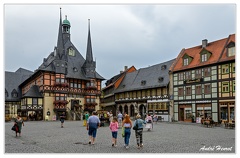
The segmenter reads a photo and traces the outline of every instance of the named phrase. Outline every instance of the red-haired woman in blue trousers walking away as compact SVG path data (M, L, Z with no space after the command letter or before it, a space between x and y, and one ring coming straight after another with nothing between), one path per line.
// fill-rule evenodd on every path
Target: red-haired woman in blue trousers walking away
M125 143L125 147L126 149L129 148L129 139L130 139L130 136L131 136L131 128L132 128L132 121L130 120L130 116L129 115L125 115L125 118L123 120L123 123L122 123L122 127L125 128L124 130L124 133L125 133L125 136L124 136L124 143Z

